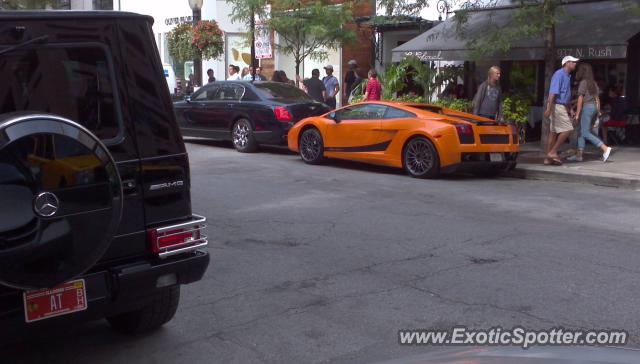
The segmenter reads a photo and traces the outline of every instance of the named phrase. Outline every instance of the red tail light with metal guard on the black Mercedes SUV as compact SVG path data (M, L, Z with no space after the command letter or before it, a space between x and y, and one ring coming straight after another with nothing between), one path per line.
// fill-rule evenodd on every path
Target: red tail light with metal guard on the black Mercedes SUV
M203 234L207 219L193 215L191 221L147 230L151 251L160 258L193 251L207 246Z

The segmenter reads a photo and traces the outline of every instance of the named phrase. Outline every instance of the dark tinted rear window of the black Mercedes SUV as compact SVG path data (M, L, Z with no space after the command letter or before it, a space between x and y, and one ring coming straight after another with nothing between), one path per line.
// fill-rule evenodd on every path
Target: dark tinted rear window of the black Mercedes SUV
M112 141L121 131L112 74L99 46L41 46L5 53L0 55L0 114L51 113Z

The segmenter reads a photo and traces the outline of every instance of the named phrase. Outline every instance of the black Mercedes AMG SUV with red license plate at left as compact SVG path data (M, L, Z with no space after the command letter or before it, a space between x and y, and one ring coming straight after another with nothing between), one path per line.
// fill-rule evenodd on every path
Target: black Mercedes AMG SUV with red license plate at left
M209 264L152 23L0 12L0 337L157 328Z

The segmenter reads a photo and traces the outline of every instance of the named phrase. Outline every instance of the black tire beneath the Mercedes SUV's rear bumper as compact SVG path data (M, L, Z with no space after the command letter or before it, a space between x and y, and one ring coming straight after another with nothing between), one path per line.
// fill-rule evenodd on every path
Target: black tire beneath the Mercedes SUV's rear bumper
M136 334L151 331L169 322L180 303L180 286L162 289L153 301L136 311L107 317L111 327L121 333Z

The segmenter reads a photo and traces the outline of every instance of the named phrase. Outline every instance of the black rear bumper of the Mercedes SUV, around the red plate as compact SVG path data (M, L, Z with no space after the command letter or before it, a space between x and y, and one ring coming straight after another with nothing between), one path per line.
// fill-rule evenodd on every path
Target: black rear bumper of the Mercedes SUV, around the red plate
M83 275L87 309L69 315L25 323L23 292L0 287L0 339L51 325L89 321L134 311L148 305L163 288L200 280L209 266L209 254L194 251L167 259L141 260ZM7 328L7 330L5 330ZM10 328L10 329L9 329ZM4 337L4 333L11 333Z

